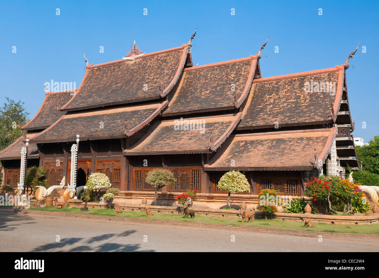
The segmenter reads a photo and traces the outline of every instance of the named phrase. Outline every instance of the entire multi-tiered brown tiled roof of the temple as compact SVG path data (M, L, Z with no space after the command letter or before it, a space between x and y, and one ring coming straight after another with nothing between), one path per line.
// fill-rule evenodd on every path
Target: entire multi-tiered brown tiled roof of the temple
M121 60L87 64L80 87L47 93L22 129L34 146L80 134L133 137L126 156L210 153L204 170L213 171L229 170L232 159L241 170L308 171L337 144L340 165L358 167L344 65L262 78L260 51L194 67L191 46L143 53L133 45ZM177 129L175 120L195 128ZM0 159L18 158L20 142ZM38 153L34 146L30 155Z

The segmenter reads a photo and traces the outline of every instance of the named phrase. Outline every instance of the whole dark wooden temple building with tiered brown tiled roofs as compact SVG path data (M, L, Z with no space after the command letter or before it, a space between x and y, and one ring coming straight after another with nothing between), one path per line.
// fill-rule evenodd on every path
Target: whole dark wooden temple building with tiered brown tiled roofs
M122 194L154 191L144 177L160 167L177 178L163 193L226 194L218 180L233 169L251 183L241 194L297 196L312 175L358 169L345 73L354 53L335 67L262 77L265 44L255 55L194 66L192 39L153 53L133 45L123 59L87 62L77 90L47 92L20 127L28 166L46 169L52 185L70 177L78 134L77 186L102 172ZM17 186L25 136L0 152L4 184Z

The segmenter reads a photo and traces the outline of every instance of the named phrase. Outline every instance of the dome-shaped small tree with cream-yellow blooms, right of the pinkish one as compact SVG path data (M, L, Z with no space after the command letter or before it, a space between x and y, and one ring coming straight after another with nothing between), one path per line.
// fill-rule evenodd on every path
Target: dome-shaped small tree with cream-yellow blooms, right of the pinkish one
M229 191L228 208L230 207L230 194L238 192L249 192L250 185L244 174L240 171L229 171L225 173L218 182L218 188Z

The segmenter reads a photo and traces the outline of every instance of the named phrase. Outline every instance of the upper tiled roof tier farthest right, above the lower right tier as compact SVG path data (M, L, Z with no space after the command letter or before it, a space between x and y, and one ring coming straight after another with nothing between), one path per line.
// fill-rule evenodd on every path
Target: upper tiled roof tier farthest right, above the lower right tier
M279 127L298 126L328 123L332 118L335 120L343 74L343 68L336 66L254 79L249 96L241 106L243 117L237 129L274 127L276 123ZM306 87L307 82L309 87ZM323 84L328 87L322 89L321 82L328 82Z

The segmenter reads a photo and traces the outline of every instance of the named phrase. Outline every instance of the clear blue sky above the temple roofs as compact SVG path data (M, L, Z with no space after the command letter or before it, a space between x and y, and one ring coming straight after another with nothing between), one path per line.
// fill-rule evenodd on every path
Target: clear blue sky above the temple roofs
M133 40L147 53L177 47L196 26L195 65L256 54L269 35L263 77L343 64L360 42L346 76L353 135L366 142L379 134L378 8L377 1L2 1L0 103L5 96L21 100L31 117L44 99L44 82L79 86L83 53L89 64L99 64L121 59Z

